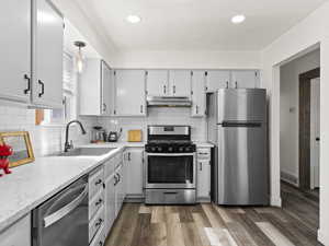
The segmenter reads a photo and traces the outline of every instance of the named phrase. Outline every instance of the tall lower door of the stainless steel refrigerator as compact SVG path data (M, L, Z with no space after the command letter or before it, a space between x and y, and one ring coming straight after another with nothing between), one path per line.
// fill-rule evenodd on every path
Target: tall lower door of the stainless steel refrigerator
M264 124L218 125L218 204L269 203L265 143Z

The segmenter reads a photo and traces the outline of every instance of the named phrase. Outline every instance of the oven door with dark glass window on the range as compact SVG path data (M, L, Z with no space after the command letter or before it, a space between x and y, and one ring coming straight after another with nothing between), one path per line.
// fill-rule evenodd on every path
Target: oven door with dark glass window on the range
M193 189L196 185L195 153L146 153L147 189Z

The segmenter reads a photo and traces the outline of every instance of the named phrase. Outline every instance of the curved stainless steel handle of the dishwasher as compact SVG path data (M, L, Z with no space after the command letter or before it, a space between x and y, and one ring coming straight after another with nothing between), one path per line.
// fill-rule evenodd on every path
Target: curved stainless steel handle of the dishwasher
M65 218L83 201L84 197L88 195L88 184L83 185L83 191L75 200L72 200L70 203L63 207L61 209L57 210L56 212L44 218L45 229Z

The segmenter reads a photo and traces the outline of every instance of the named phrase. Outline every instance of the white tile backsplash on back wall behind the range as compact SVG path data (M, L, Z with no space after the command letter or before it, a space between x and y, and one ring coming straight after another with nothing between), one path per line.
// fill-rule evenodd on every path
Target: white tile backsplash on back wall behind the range
M192 127L193 141L206 141L206 119L191 118L191 108L150 107L147 117L99 117L98 122L107 131L123 128L120 141L127 141L127 131L141 129L143 139L147 140L148 125L189 125ZM117 127L116 127L117 124Z

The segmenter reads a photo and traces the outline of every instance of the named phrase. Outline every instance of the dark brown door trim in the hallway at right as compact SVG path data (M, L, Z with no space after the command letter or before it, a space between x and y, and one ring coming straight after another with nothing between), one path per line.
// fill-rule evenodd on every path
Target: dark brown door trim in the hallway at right
M299 188L310 188L310 81L320 77L320 68L299 74Z

